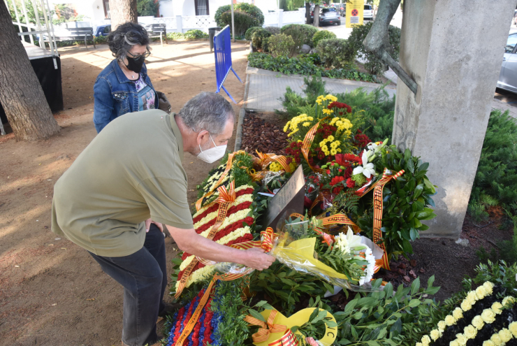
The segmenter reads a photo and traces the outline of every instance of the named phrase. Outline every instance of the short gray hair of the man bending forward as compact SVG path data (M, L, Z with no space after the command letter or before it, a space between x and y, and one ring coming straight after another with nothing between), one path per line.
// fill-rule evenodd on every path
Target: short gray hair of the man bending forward
M231 103L213 92L197 94L184 104L178 115L195 132L207 130L214 135L221 134L226 122L235 119Z

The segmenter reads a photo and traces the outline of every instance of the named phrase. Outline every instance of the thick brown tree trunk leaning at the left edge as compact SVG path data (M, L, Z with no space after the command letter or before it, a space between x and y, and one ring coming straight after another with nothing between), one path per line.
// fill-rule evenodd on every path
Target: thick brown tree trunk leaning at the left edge
M6 3L0 1L0 103L16 140L46 139L61 131L48 106Z

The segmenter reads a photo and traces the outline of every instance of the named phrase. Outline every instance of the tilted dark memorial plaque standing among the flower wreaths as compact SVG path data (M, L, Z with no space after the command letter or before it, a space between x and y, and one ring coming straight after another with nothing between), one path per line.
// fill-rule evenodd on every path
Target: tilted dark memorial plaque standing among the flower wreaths
M303 178L303 169L300 165L291 175L291 178L282 186L282 189L279 189L277 194L271 199L262 222L263 229L271 227L274 231L277 231L275 227L284 210L292 209L303 214L304 196L305 178Z

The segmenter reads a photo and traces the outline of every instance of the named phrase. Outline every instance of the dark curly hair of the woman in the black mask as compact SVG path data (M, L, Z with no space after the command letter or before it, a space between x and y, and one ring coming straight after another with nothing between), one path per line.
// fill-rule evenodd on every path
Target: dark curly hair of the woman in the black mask
M117 30L111 31L108 36L108 45L117 60L123 60L133 45L145 45L147 50L150 50L147 30L132 22L119 25Z

